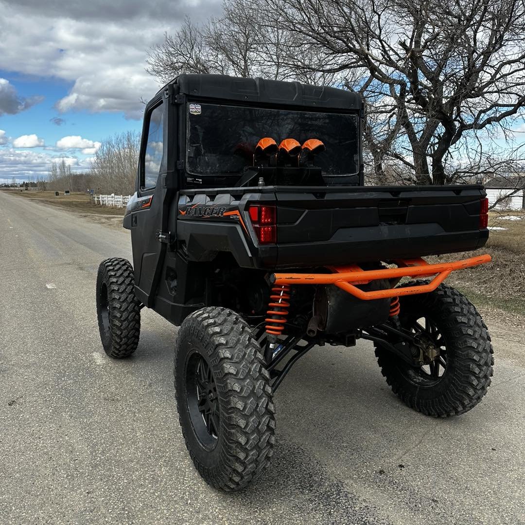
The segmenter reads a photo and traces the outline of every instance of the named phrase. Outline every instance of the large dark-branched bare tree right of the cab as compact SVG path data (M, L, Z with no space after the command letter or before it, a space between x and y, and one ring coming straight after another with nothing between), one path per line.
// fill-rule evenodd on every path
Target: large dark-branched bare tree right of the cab
M327 57L322 71L359 72L351 87L366 86L366 98L395 112L410 155L387 154L418 182L450 182L454 148L505 127L525 102L523 0L264 2L270 25L285 25ZM302 60L297 67L311 68Z

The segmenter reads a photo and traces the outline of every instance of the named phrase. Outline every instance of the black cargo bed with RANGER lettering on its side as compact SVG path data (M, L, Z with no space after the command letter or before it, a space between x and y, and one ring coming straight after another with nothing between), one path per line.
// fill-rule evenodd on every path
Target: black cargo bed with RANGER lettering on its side
M447 254L486 243L488 230L478 228L482 197L482 186L185 190L177 239L191 260L226 251L239 266L261 269ZM277 207L276 245L259 246L251 227L248 207L261 203ZM214 215L217 207L227 216Z

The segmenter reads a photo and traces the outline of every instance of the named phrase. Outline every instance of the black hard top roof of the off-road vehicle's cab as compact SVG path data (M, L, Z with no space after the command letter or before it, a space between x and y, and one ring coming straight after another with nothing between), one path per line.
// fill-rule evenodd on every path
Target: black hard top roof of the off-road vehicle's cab
M358 93L300 82L228 75L179 75L169 84L176 84L181 93L196 98L344 110L363 107Z

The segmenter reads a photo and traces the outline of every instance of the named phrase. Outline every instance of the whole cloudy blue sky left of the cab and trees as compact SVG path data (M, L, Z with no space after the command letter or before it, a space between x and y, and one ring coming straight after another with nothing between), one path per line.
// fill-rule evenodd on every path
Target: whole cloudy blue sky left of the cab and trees
M146 53L185 15L220 0L0 0L0 182L36 180L54 159L89 166L100 141L141 128L158 82Z

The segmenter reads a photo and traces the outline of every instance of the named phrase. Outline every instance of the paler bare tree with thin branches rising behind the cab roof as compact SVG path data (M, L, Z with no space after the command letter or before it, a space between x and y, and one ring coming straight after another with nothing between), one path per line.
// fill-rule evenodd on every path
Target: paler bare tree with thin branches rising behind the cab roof
M266 13L246 0L227 0L220 17L193 24L190 18L173 35L150 49L148 71L163 82L182 73L207 73L237 77L300 80L328 85L334 75L291 66L291 51L298 37L283 24L268 25ZM309 47L303 59L316 64L319 57Z

